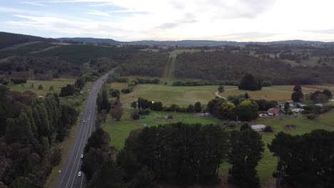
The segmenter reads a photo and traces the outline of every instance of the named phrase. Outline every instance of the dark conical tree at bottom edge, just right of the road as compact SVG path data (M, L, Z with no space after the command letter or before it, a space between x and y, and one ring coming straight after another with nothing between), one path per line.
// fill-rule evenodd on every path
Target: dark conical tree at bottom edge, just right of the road
M102 166L88 184L91 188L123 188L123 171L113 160L103 162Z

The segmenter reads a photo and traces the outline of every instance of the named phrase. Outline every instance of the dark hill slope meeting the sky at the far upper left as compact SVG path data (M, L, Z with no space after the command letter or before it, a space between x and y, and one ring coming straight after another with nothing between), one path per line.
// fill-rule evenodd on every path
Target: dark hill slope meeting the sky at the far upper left
M43 38L39 36L29 36L16 33L0 32L0 49L20 43L30 43L36 41L41 41L46 43L57 42L57 40L54 38Z

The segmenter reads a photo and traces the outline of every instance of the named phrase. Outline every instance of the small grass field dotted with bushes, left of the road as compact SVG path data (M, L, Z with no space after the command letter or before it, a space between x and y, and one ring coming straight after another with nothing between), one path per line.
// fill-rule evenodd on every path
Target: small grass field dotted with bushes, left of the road
M37 95L46 95L47 93L60 93L62 87L67 84L73 84L74 81L75 80L71 78L59 78L54 80L27 80L24 84L11 85L9 88L19 92L31 90ZM34 83L34 88L31 88L32 83ZM43 85L43 89L39 90L39 85ZM54 85L54 91L49 90L51 85Z

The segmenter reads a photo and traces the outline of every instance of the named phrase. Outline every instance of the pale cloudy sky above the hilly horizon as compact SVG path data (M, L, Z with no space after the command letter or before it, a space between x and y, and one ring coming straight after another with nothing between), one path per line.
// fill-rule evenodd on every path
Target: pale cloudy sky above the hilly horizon
M116 41L334 41L333 0L0 0L0 31Z

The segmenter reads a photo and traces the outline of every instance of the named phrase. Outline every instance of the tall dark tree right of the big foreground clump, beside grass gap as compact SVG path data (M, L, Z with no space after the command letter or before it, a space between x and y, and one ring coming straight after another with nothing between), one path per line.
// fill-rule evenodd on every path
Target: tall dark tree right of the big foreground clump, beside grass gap
M229 161L232 167L229 169L231 174L229 182L238 187L260 187L260 179L255 167L264 152L261 135L249 129L241 132L233 130L230 140L232 150Z

